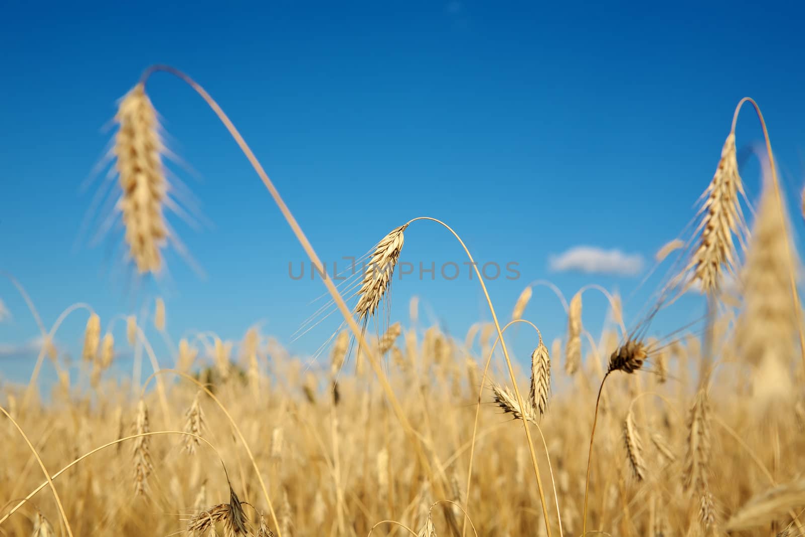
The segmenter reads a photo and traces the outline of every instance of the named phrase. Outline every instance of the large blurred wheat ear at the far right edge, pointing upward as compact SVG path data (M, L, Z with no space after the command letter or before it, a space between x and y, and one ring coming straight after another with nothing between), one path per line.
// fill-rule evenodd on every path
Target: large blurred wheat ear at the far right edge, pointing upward
M790 282L798 263L789 254L795 249L787 223L767 177L741 271L744 308L735 331L738 353L754 370L753 395L764 403L791 393L797 316Z

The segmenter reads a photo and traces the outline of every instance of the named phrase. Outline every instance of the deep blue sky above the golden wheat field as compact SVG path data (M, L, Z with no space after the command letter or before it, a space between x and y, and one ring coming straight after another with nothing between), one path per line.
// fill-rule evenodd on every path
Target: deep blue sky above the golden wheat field
M452 225L480 262L518 263L520 279L489 282L502 317L532 279L568 296L585 283L630 295L693 216L741 97L766 114L796 210L805 7L740 4L11 0L0 21L0 269L23 283L47 325L74 302L92 304L105 324L163 295L176 338L195 328L237 339L263 321L288 342L315 310L309 302L324 287L288 277L303 251L270 196L171 76L155 75L148 91L188 164L172 169L204 215L200 229L169 217L204 277L168 252L167 275L138 281L122 268L119 232L97 245L81 233L88 212L105 216L90 211L99 183L81 185L109 142L115 102L143 68L166 63L219 101L325 261L363 254L425 215ZM737 136L741 147L760 138L748 109ZM753 198L758 167L742 171ZM799 213L792 220L801 234ZM574 271L560 256L576 246L621 250L642 269ZM551 270L552 257L564 270ZM419 222L402 260L465 259L443 229ZM392 319L407 320L411 295L423 322L456 335L489 319L466 272L439 280L395 283ZM630 300L627 321L651 290ZM37 328L5 280L0 298L12 315L0 324L0 378L19 380ZM603 308L585 295L593 333ZM526 316L549 341L564 333L564 312L544 288ZM71 318L58 339L77 348L84 324L83 314ZM309 353L333 328L325 322L289 345ZM119 329L116 337L125 340Z

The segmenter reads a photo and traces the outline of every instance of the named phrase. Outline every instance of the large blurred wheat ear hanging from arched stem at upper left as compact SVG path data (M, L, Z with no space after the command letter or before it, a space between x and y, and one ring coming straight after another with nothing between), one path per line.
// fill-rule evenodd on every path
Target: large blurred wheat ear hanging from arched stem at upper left
M157 273L162 266L159 250L168 237L163 218L167 180L160 157L159 121L142 82L123 97L115 122L119 128L113 151L122 190L118 209L129 256L140 274Z

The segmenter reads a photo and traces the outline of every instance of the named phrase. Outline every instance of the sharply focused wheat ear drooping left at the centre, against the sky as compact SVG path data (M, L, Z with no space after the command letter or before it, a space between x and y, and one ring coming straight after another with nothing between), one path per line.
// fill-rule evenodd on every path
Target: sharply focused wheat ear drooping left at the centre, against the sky
M403 231L406 228L407 225L401 225L392 229L378 242L374 252L369 256L369 265L365 268L355 306L355 315L359 321L368 320L373 316L378 304L386 295L391 285L391 276L394 275L394 266L397 265L400 251L403 250Z

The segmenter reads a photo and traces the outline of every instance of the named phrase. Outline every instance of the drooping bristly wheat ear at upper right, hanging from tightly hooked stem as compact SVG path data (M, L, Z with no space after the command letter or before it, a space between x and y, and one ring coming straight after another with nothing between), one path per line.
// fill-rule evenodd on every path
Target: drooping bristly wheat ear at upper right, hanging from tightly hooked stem
M743 194L743 186L738 175L733 130L721 149L716 173L704 191L707 199L699 211L704 215L697 228L701 231L699 246L687 265L687 270L692 271L687 287L698 282L704 291L714 293L719 289L722 271L726 269L734 275L733 234L741 241L744 235L739 194Z

